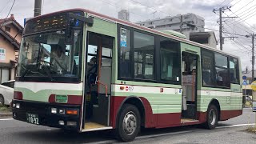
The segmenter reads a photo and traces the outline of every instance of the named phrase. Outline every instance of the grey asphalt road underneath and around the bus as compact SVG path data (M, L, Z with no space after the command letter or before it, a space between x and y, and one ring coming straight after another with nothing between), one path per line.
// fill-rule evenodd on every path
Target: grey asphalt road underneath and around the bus
M219 122L215 130L198 126L168 129L146 129L130 143L255 143L256 134L246 132L247 124L255 122L255 113L244 109L243 114L226 122ZM241 126L242 124L242 126ZM118 143L110 131L78 134L46 126L34 126L13 119L0 119L0 143Z

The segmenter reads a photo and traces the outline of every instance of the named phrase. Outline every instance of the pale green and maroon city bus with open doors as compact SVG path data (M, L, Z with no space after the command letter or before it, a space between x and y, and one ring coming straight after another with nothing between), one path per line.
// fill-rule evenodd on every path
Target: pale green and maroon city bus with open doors
M204 124L242 114L238 57L90 10L26 22L13 118L86 132Z

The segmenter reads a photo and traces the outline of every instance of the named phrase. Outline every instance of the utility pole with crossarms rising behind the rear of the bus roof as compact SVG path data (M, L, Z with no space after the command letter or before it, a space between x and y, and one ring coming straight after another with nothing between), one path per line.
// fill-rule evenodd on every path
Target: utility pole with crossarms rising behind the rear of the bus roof
M219 11L219 48L220 50L223 50L223 44L224 44L224 38L222 37L222 18L237 18L237 17L222 17L222 13L224 13L225 10L230 10L231 6L226 6L226 7L220 7L217 10L213 10L215 13L216 11ZM215 13L216 14L216 13ZM229 37L229 38L235 38L235 37Z

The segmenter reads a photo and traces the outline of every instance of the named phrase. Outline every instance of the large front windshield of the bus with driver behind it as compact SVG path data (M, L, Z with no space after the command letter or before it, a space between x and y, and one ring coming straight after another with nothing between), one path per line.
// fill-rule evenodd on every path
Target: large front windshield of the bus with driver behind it
M62 31L22 38L18 76L77 77L80 30L74 30L74 35L73 45L66 45Z

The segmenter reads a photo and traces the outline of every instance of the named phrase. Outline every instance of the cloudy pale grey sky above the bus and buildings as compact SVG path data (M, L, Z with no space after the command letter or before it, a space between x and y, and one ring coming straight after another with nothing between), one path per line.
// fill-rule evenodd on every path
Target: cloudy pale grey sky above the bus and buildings
M0 18L6 18L14 0L0 0ZM251 70L251 38L246 35L256 30L256 1L254 0L42 0L42 14L70 8L84 8L117 18L119 10L130 11L130 21L138 22L147 19L175 16L177 14L194 13L205 18L206 31L215 31L218 38L218 10L222 6L231 6L225 10L223 17L223 29L225 38L223 51L238 55L242 60L242 70ZM24 18L34 15L34 0L16 0L13 10L14 18L23 26ZM255 14L255 15L254 15ZM209 30L211 29L211 30ZM219 47L219 45L218 45Z

